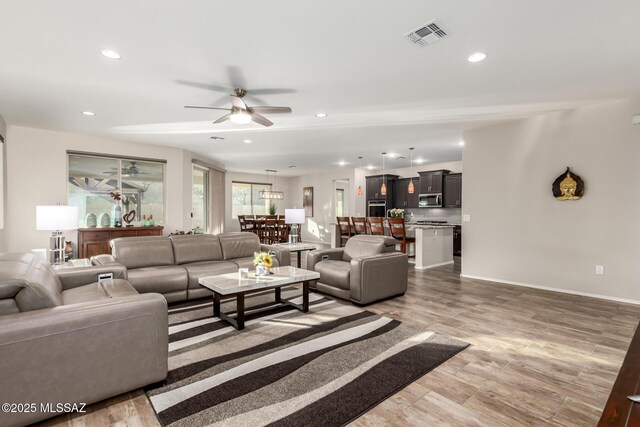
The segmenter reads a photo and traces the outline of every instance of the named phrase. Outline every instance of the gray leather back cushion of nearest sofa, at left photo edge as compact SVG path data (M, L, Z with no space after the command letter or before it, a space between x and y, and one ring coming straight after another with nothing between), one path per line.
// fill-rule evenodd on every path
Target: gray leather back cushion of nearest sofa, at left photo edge
M33 254L0 254L0 314L62 305L62 284L53 268Z

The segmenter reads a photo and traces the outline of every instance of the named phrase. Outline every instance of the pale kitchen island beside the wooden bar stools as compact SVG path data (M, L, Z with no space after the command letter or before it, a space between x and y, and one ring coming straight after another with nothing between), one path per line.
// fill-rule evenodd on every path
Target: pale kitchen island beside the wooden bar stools
M455 225L406 224L407 235L415 235L415 268L426 270L453 264L453 229Z

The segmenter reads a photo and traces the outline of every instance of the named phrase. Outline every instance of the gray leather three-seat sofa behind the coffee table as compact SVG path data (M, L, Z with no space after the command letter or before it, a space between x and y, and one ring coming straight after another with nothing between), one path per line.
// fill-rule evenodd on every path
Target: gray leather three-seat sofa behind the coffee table
M198 279L253 267L255 252L275 252L275 266L290 264L290 252L260 244L254 233L126 237L111 241L111 255L91 258L94 265L119 264L140 293L158 292L167 301L210 296Z

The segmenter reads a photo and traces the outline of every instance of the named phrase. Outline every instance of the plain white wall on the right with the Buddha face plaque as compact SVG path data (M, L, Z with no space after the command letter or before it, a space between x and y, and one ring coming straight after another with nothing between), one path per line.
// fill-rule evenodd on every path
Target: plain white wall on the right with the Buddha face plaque
M638 112L631 99L465 133L462 274L640 302ZM551 193L567 166L581 200Z

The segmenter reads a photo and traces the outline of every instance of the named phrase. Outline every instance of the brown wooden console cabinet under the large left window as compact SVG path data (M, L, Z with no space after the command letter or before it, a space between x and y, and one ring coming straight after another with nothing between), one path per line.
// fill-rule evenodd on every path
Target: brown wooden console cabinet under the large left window
M162 236L162 226L154 227L109 227L78 229L78 258L110 254L109 240L116 237Z

